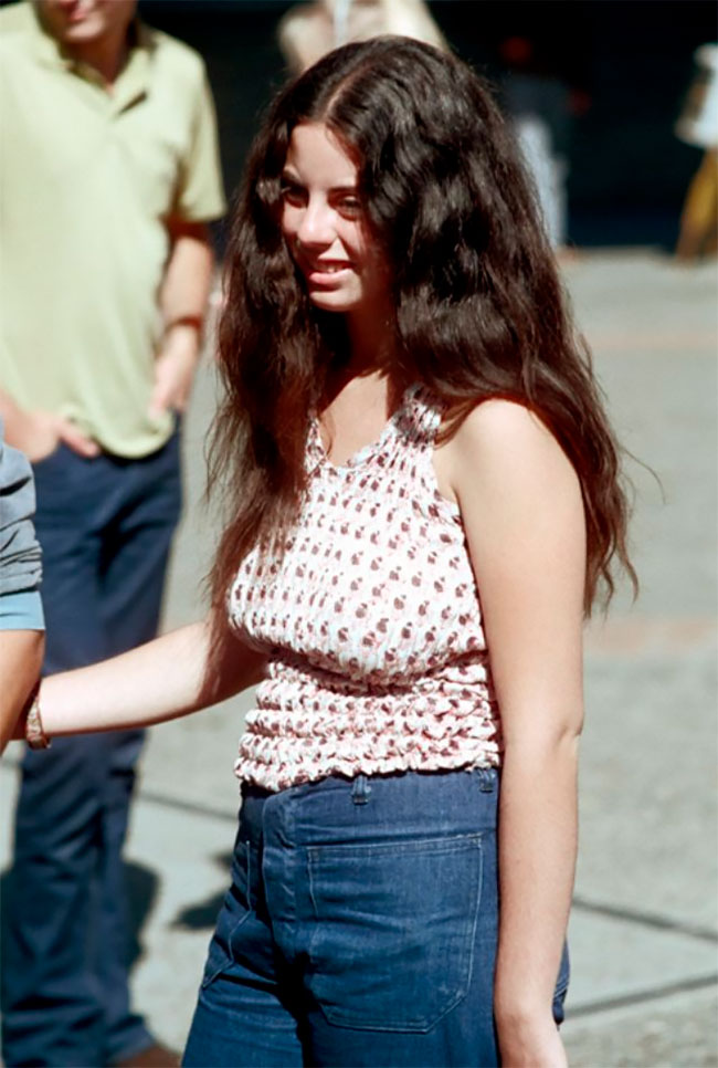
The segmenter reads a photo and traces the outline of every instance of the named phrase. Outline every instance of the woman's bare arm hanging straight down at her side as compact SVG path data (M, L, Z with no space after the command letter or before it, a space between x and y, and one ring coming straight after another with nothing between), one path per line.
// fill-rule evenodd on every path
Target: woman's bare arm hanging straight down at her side
M551 1002L577 847L585 524L579 482L546 427L477 407L451 443L505 742L495 1012L504 1064L564 1062Z

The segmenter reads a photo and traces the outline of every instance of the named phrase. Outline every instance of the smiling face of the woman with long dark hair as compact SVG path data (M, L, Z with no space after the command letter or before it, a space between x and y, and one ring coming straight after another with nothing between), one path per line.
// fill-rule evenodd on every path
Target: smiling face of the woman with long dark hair
M386 296L388 272L368 232L357 165L323 123L292 132L282 232L317 307L362 314Z

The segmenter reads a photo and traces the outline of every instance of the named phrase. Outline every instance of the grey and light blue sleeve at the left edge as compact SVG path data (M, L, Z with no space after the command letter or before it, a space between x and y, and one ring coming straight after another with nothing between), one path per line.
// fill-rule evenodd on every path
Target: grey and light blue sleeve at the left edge
M42 630L42 556L32 516L35 490L25 457L3 444L0 425L0 629Z

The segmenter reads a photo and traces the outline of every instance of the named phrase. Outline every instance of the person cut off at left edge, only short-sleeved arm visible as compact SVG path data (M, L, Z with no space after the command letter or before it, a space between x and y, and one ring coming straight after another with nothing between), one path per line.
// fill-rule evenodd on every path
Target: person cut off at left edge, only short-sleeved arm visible
M0 752L38 680L44 651L34 511L32 470L21 452L4 444L0 419Z

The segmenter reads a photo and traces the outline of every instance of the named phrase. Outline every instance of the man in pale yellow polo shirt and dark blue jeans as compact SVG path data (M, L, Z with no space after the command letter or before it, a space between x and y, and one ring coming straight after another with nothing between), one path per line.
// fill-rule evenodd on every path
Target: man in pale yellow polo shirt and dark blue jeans
M200 57L135 0L0 12L0 416L34 467L46 672L152 637L176 412L224 211ZM176 1064L128 997L120 851L141 734L23 761L3 899L7 1065Z

